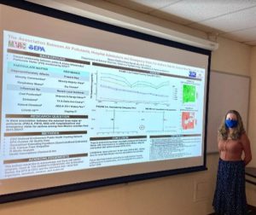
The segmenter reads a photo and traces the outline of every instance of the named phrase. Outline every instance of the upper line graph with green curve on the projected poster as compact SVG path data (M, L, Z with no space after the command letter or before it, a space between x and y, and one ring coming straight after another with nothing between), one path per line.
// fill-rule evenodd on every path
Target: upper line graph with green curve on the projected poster
M161 77L135 73L97 73L97 100L169 103L170 83Z

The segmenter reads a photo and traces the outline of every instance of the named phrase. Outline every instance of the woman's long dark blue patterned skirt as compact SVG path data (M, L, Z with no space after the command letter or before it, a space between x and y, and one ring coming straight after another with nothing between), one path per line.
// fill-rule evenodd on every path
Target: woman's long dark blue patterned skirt
M218 160L218 174L212 206L218 214L247 213L245 165L242 160Z

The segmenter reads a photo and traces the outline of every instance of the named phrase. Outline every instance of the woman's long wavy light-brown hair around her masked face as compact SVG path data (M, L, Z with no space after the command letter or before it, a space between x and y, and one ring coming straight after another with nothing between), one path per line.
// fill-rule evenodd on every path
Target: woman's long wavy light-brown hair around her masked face
M237 126L233 128L233 132L229 134L229 128L227 125L225 125L225 120L227 118L227 115L229 113L233 113L236 115L237 119ZM245 132L243 124L242 124L242 119L240 113L238 113L236 110L229 110L228 113L225 114L224 119L222 120L221 125L218 128L218 138L221 140L227 140L228 137L232 140L237 140L241 137L241 135Z

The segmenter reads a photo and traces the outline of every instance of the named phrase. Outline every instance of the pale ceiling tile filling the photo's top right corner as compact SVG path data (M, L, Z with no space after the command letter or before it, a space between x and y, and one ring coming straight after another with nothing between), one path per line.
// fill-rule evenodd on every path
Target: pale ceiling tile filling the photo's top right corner
M188 25L189 23L227 15L253 6L256 6L256 1L252 0L183 0L163 9L154 10L150 14ZM181 22L177 17L182 18L183 21Z

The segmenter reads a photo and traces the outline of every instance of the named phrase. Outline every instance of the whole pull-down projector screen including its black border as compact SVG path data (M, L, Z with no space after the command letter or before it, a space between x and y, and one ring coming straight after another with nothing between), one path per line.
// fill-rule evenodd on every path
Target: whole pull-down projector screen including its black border
M206 169L210 51L23 5L0 8L0 202Z

